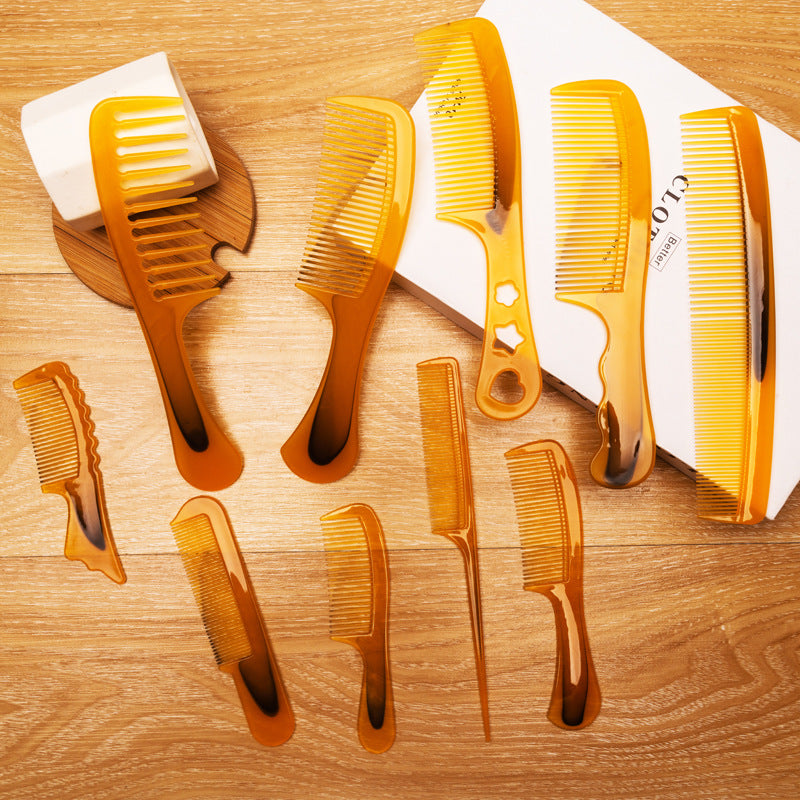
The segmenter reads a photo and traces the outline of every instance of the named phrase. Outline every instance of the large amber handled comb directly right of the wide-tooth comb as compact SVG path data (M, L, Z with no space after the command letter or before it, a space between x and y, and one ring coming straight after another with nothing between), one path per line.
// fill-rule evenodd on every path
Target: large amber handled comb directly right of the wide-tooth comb
M317 195L297 286L333 324L314 399L281 455L296 475L328 483L358 458L358 398L372 327L405 235L414 127L391 100L328 100Z

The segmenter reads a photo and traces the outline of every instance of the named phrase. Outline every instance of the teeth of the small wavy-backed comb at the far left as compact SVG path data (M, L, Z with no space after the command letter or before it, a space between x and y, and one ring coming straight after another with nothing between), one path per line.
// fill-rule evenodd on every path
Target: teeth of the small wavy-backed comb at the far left
M78 435L61 389L55 381L44 380L16 391L33 442L41 485L77 478Z

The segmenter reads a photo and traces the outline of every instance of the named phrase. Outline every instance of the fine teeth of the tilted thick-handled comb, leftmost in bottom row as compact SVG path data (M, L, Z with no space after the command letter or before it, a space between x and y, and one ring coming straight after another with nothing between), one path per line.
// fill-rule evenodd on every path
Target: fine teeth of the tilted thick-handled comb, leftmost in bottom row
M211 520L201 514L171 526L217 664L242 661L252 648Z

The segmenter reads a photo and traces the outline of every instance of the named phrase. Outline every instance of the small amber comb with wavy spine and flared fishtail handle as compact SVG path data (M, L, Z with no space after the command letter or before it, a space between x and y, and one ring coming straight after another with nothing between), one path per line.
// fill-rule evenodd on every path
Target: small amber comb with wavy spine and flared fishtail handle
M61 361L50 361L14 381L33 442L45 494L60 494L69 507L64 555L116 583L125 583L111 526L94 423L78 379Z

